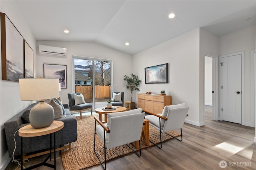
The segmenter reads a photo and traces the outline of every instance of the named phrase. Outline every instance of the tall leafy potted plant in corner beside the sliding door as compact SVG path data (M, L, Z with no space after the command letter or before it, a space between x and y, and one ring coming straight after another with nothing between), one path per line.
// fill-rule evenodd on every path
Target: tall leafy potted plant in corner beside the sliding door
M140 91L138 88L140 86L141 80L139 80L139 77L135 74L131 74L130 77L124 75L124 82L127 89L131 91L130 97L131 97L131 108L134 109L135 102L132 102L132 92L133 91Z

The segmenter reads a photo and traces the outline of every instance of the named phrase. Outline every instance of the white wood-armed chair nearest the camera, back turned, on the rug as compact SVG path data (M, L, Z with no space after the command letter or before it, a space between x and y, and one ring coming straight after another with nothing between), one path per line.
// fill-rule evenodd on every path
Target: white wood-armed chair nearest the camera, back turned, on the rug
M130 111L124 111L119 113L108 113L107 123L102 123L98 118L95 119L95 130L94 130L94 152L98 159L100 160L97 151L95 149L96 134L100 140L104 143L104 161L100 163L104 170L106 170L106 149L111 149L121 145L127 145L134 141L139 141L140 145L140 135L142 131L143 121L145 113L142 113L142 109L134 109ZM96 126L98 122L99 125ZM103 146L103 145L102 145ZM127 145L132 149L129 145ZM132 149L132 151L137 155L141 156L141 151L139 154Z

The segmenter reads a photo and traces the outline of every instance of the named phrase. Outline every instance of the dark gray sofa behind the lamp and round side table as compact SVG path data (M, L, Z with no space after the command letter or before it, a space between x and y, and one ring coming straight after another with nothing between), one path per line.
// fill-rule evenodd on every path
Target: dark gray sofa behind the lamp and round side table
M38 102L37 102L38 103ZM12 153L14 151L15 143L14 143L14 133L18 131L23 126L28 125L28 123L24 123L24 119L22 118L22 114L26 111L34 107L37 103L31 104L26 109L20 111L17 115L9 119L4 123L4 131L6 135L6 142L8 146L9 156L12 157ZM56 150L61 149L71 149L71 143L75 142L77 139L77 121L75 117L72 117L70 111L68 109L68 104L63 104L64 109L66 111L66 118L56 119L58 121L64 122L64 127L56 132ZM20 155L20 136L18 132L15 134L15 140L17 143L16 150L14 152L14 156ZM68 144L68 145L65 145ZM52 140L52 146L53 140ZM57 149L58 148L58 149ZM39 137L24 137L23 138L23 153L26 153L24 158L31 158L34 156L46 154L47 150L50 150L50 137L49 135L39 136ZM44 151L41 154L35 154L34 152ZM32 153L32 154L31 154ZM28 156L27 156L28 155Z

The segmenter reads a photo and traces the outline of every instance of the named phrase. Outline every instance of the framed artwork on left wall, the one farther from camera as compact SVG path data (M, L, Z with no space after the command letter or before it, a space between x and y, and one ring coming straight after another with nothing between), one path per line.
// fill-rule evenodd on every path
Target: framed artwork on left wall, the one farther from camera
M34 51L24 40L24 78L34 78Z

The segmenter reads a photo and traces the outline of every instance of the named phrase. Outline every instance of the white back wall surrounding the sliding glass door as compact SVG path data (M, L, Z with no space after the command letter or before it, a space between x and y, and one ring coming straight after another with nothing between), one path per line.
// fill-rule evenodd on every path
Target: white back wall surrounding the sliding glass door
M39 45L49 45L54 47L64 47L67 49L67 57L39 54ZM124 75L132 73L132 56L126 53L105 47L91 42L69 42L69 41L36 41L37 63L36 71L38 77L44 77L43 64L67 65L67 88L62 88L60 97L63 103L68 103L68 93L74 92L73 84L73 58L72 56L92 57L99 59L109 59L113 61L113 90L126 92L124 86ZM128 92L124 93L124 100L129 100Z

